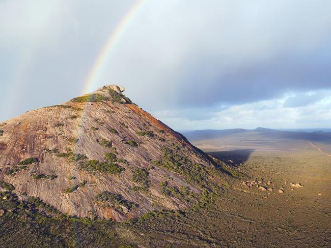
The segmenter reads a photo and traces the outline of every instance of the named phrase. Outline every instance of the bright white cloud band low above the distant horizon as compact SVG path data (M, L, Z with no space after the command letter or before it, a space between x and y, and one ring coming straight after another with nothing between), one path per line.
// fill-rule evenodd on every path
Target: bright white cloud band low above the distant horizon
M278 99L257 101L254 103L237 104L224 109L213 108L209 118L190 118L190 112L183 110L181 115L173 112L167 115L154 113L155 116L171 124L177 130L197 130L197 129L232 129L246 128L255 129L257 127L268 128L327 128L331 123L331 90L309 92L311 95L322 95L325 97L320 101L315 101L309 105L284 108L284 103L288 101L288 96ZM303 95L307 95L306 94Z

